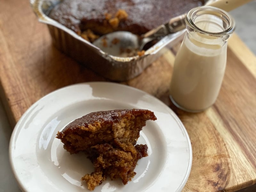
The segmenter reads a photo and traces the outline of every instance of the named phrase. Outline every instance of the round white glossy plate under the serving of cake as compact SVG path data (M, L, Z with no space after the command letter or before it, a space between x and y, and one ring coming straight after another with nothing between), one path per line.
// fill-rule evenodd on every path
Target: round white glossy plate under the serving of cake
M105 180L95 192L175 192L184 187L192 164L188 133L163 102L130 86L92 82L54 91L33 104L20 118L10 141L10 162L24 192L89 191L80 179L93 171L84 153L70 155L56 133L76 118L100 110L142 108L153 111L137 143L148 145L137 174L123 185Z

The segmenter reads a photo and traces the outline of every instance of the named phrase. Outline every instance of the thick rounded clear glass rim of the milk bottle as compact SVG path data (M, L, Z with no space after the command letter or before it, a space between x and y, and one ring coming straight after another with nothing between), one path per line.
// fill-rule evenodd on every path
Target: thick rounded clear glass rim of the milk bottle
M214 15L214 16L219 17L221 20L223 20L227 24L227 28L225 28L221 32L210 32L210 31L205 31L205 30L197 27L196 24L194 23L194 19L197 16L200 16L203 14ZM202 6L202 7L196 7L194 9L191 9L187 14L186 24L192 30L195 30L196 32L202 33L204 35L209 35L209 36L221 37L221 36L229 35L235 29L235 21L228 14L228 12L226 12L222 9L219 9L217 7L212 7L212 6Z

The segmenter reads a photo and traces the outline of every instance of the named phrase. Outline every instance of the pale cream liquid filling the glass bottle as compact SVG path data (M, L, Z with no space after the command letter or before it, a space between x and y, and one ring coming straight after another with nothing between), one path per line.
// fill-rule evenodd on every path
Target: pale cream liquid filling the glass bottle
M185 37L170 86L172 100L181 108L201 111L215 102L225 73L226 46L192 43Z

